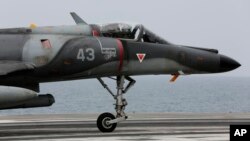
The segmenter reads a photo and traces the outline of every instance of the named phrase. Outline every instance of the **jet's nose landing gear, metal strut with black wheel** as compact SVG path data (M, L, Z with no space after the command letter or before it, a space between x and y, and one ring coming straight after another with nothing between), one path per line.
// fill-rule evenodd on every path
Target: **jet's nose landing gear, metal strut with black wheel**
M101 132L112 132L115 130L117 123L125 121L128 117L126 116L124 110L128 105L126 99L123 97L134 84L135 80L133 80L129 76L117 76L116 84L117 84L117 93L114 94L110 88L104 83L101 78L97 78L102 86L107 89L107 91L113 96L116 100L115 110L116 116L111 113L103 113L97 119L97 127ZM114 79L114 78L111 78ZM129 81L128 85L124 89L125 79Z

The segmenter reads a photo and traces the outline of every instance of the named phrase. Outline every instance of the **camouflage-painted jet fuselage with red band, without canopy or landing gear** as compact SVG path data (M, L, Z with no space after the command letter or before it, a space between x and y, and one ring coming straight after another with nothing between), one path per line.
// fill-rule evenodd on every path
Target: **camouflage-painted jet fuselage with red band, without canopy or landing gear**
M215 50L93 36L87 25L0 30L0 61L34 66L0 76L0 85L37 91L40 82L229 71L227 59L234 61Z

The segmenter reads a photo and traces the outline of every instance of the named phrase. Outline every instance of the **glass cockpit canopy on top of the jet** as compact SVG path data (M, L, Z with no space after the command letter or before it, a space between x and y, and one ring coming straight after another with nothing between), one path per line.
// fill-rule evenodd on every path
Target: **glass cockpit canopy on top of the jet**
M171 44L141 24L133 26L126 23L110 23L104 25L92 25L92 27L98 29L100 34L104 37L129 39L138 42Z

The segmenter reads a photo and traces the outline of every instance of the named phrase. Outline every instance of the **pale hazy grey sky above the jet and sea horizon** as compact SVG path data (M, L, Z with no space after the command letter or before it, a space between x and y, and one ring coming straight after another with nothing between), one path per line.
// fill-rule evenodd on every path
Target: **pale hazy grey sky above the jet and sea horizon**
M1 0L0 27L72 25L71 11L88 23L142 23L172 43L218 49L242 64L220 76L250 76L249 0Z

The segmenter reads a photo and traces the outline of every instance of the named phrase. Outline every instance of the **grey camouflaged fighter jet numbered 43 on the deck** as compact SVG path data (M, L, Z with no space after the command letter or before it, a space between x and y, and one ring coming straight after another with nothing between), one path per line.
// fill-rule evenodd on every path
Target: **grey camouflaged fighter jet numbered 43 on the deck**
M40 83L95 78L114 98L116 112L101 114L97 127L112 132L128 118L124 94L136 82L131 76L168 74L174 82L240 66L216 49L176 45L141 24L88 24L71 16L76 25L0 29L0 109L51 106L54 97L39 94ZM116 81L116 92L104 77Z

